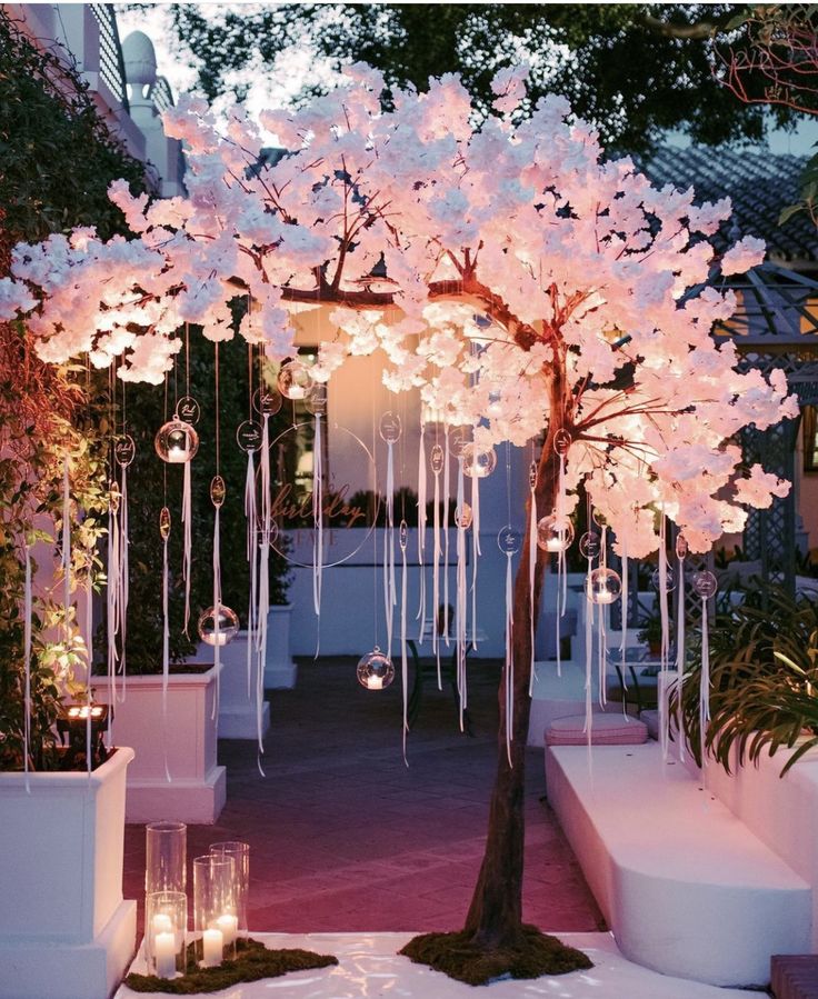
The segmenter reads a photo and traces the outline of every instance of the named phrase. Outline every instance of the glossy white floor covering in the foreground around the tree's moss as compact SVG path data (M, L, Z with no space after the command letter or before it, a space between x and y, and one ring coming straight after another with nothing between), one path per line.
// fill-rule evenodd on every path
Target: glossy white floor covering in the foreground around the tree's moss
M617 950L610 933L559 933L560 940L585 951L593 961L588 971L546 976L532 981L497 981L488 989L475 989L453 981L425 965L400 957L398 950L412 933L252 933L268 947L301 947L319 953L333 953L338 966L317 971L296 971L281 978L232 986L213 997L225 999L371 999L393 996L400 999L520 999L530 997L570 997L570 999L752 999L757 992L717 989L696 981L657 975L627 961ZM141 955L132 971L143 971ZM114 999L137 999L158 992L132 992L122 986Z

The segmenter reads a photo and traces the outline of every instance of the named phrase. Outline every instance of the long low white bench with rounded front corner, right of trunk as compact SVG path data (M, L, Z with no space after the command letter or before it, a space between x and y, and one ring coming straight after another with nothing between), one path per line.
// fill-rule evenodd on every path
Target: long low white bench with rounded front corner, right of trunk
M546 752L548 800L621 952L716 986L810 949L811 891L658 743Z

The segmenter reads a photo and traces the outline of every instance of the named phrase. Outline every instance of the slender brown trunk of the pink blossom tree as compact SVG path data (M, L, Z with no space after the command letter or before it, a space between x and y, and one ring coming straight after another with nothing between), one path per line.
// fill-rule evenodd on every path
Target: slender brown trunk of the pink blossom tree
M548 434L540 454L536 498L537 513L542 517L556 506L559 486L559 458L555 451L555 434L565 426L563 379L555 376L551 383L551 418ZM527 528L531 509L528 510ZM529 600L529 559L537 559L535 567L533 626L542 591L547 553L529 550L529 531L526 530L520 565L513 588L512 657L513 725L511 763L506 750L505 669L500 681L500 730L498 736L498 762L495 787L489 809L480 875L475 886L465 930L472 941L487 949L503 947L518 941L522 930L522 871L525 847L525 780L526 742L531 708L529 679L531 673L531 606Z

